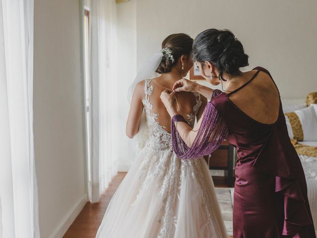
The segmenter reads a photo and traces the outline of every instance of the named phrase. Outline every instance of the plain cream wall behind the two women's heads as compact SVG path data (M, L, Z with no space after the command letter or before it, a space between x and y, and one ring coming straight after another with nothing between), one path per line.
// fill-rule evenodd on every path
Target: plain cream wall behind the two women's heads
M305 97L317 91L316 22L316 0L138 0L137 62L171 33L227 28L250 56L246 69L264 66L282 97Z

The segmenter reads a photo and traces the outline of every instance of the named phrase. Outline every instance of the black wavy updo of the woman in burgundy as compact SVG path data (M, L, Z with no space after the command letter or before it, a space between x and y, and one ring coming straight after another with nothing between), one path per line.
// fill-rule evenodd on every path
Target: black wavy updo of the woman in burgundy
M239 68L249 65L249 56L244 53L240 41L229 30L208 29L194 40L193 60L213 63L219 69L219 78L224 80L223 72L238 75Z

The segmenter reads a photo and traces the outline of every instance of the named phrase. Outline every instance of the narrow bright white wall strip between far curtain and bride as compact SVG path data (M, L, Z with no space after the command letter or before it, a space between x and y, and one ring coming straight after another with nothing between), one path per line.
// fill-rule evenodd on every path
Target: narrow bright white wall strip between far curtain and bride
M122 94L118 95L118 120L123 126L118 128L118 137L121 148L118 158L118 171L127 171L130 161L134 158L134 141L125 135L125 123L130 105L127 100L129 85L136 75L136 1L130 0L116 4L117 9L117 36L118 36L118 68L119 87ZM123 100L122 100L123 97ZM120 99L121 98L121 99Z

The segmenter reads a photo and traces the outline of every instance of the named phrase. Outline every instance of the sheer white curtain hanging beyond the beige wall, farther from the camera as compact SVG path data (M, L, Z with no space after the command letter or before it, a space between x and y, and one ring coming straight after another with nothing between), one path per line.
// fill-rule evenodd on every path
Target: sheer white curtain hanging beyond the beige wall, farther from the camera
M117 173L118 79L115 0L90 2L91 161L89 199L98 202Z

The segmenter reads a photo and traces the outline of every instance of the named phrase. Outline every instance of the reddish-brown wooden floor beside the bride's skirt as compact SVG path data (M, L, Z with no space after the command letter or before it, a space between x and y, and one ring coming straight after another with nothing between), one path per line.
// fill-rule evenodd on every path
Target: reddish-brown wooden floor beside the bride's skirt
M108 189L102 194L100 202L86 203L63 238L95 238L110 199L125 175L126 173L121 172L112 179ZM213 177L213 182L217 187L226 187L224 178Z

